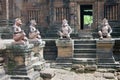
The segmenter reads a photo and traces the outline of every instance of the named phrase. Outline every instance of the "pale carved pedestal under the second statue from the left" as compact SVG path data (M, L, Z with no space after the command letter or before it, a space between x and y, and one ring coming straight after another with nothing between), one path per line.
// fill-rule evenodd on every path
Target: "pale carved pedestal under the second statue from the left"
M40 44L38 41L31 41L30 43L34 45L34 47L32 48L33 54L31 56L32 62L34 63L33 67L35 70L40 71L45 68L45 60L43 56L45 42L42 41L42 43Z

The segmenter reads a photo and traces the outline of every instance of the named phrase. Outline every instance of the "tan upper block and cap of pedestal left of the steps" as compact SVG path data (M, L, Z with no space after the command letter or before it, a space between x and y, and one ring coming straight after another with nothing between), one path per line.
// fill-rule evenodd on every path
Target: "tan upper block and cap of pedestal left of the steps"
M74 42L73 40L57 40L58 58L73 57Z

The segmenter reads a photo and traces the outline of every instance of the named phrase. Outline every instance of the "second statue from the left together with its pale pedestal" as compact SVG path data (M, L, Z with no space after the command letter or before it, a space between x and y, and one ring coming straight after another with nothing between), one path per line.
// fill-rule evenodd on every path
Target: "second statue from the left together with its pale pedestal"
M42 41L40 32L35 28L37 25L35 20L30 21L30 32L29 32L29 43L33 44L31 59L36 59L33 62L33 67L35 70L42 70L45 67L45 61L43 58L43 49L45 46L45 41Z

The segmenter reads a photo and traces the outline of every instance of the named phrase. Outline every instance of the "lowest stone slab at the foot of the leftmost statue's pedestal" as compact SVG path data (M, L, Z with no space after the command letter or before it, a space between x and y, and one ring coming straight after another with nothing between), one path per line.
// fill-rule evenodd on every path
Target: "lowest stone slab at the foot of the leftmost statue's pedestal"
M42 80L39 72L32 72L29 75L11 75L12 80Z

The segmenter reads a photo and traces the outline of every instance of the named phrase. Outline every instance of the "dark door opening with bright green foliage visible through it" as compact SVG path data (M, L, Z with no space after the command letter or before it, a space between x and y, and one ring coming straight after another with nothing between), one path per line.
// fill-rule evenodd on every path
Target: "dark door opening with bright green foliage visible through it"
M92 5L80 5L81 29L90 29L93 23L93 7Z

